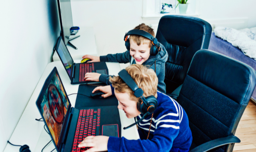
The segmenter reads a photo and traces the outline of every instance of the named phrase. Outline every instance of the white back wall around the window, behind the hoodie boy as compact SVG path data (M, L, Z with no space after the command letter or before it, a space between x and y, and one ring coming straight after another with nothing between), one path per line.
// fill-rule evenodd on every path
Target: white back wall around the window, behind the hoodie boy
M215 26L256 26L256 0L194 1L197 3L198 17ZM146 2L152 3L154 0ZM71 0L73 24L94 28L99 55L124 52L123 38L126 32L140 23L150 25L159 22L159 19L142 20L142 6L142 0ZM121 68L126 66L121 64Z

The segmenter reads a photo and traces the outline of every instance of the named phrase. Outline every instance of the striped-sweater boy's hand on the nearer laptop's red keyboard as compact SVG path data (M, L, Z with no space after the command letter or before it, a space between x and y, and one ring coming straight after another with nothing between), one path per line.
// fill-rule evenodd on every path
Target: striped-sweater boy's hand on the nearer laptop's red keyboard
M78 145L81 147L91 147L85 152L102 152L108 150L108 136L88 136Z

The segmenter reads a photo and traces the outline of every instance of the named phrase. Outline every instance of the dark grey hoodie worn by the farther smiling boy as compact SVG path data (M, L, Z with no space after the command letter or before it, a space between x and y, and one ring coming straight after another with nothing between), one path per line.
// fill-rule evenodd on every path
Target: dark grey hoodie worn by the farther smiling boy
M166 85L164 83L164 77L165 77L165 62L168 58L168 53L166 52L164 46L160 44L161 51L159 52L157 59L156 56L150 55L148 60L146 60L142 65L149 65L150 68L152 68L154 71L156 71L156 75L158 77L158 86L157 90L166 93ZM156 67L155 67L155 59L156 59ZM106 56L100 56L100 61L102 62L119 62L119 63L128 63L130 64L136 64L135 60L130 55L130 51L126 51L124 53L117 53L117 54L108 54ZM132 61L132 63L131 63ZM151 66L152 65L152 66ZM108 85L111 84L109 81L109 75L101 74L99 78L100 82L106 83Z

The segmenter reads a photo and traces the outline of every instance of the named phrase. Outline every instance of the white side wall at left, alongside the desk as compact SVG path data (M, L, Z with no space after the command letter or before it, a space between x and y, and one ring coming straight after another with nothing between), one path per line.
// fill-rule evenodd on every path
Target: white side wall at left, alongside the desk
M2 152L50 62L52 49L60 35L57 1L2 0L0 29Z

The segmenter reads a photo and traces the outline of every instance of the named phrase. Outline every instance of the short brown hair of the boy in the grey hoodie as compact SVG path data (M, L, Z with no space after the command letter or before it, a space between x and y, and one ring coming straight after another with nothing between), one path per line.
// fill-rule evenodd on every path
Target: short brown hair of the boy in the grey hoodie
M146 32L148 32L149 34L151 34L153 37L155 37L155 32L153 28L150 28L149 26L147 26L146 24L142 23L138 26L136 26L134 28L134 30L144 30ZM140 46L140 44L148 44L148 47L151 48L152 43L151 40L149 40L148 38L145 38L144 36L138 36L138 35L130 35L129 37L129 41L134 41L135 43L137 43L138 46ZM129 50L130 51L130 50Z

